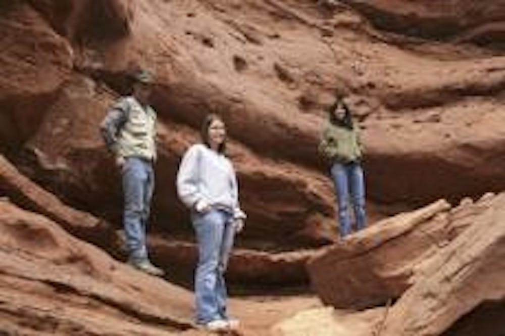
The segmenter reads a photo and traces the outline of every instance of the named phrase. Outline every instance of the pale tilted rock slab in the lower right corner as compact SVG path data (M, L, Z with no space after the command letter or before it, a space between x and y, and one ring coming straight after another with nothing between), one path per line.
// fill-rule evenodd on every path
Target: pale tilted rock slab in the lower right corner
M504 260L505 194L501 194L415 275L415 284L391 308L383 334L502 334Z

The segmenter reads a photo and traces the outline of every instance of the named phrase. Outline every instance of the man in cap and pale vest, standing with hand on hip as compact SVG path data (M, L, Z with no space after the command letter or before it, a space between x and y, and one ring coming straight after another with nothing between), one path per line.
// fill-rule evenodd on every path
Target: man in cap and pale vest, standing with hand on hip
M121 97L113 105L100 131L122 173L128 263L148 274L162 276L163 270L151 264L146 248L156 160L156 112L148 105L153 78L147 71L138 71L132 79L132 95Z

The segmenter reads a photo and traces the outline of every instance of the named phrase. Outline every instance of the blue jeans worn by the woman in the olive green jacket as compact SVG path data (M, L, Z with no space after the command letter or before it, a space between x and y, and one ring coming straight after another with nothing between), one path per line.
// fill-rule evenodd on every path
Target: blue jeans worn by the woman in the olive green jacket
M356 162L335 162L331 167L331 176L337 197L340 236L344 237L352 231L348 210L349 201L354 209L357 229L361 230L365 227L365 181L363 169Z

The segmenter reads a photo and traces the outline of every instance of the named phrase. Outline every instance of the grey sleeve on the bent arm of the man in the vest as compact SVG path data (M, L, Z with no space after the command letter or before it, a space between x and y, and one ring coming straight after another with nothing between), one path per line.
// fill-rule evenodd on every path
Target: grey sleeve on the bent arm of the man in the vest
M109 110L106 117L100 124L100 133L107 148L117 154L118 134L128 119L128 101L119 100Z

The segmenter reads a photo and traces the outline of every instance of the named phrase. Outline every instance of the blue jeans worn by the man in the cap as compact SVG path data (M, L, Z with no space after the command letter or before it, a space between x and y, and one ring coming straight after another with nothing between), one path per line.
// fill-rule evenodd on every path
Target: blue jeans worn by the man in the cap
M136 157L126 158L123 169L123 224L130 259L147 260L145 231L153 191L153 164Z

